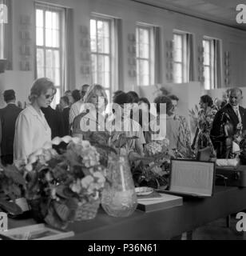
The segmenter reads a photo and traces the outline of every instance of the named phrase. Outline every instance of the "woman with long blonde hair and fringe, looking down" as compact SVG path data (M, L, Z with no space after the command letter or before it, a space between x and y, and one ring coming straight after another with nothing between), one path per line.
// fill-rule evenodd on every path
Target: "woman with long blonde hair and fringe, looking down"
M95 131L105 131L105 108L108 98L103 86L94 84L89 86L84 104L81 106L81 114L73 120L73 137L85 139L85 135Z

